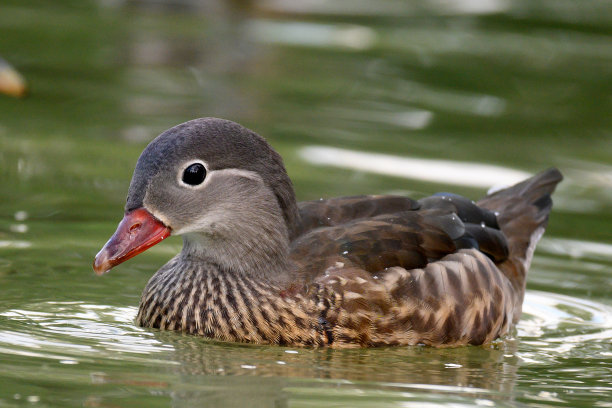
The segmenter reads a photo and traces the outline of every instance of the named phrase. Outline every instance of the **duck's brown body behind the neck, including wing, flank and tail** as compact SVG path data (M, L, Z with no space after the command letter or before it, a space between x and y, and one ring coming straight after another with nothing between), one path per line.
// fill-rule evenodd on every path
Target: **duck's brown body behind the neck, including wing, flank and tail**
M300 203L291 258L328 342L439 346L505 334L561 178L548 170L478 203L451 194Z

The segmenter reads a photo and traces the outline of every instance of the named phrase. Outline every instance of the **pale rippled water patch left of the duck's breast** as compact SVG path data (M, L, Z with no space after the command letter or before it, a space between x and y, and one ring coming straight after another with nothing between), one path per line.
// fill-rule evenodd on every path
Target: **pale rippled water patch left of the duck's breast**
M172 346L133 324L135 307L84 302L44 302L0 313L0 352L63 361L91 358L139 360ZM147 357L138 357L138 356Z

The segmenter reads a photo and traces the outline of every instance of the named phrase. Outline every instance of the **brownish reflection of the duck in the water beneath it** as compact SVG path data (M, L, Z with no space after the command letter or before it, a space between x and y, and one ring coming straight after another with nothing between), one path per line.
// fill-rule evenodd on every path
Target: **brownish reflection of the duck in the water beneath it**
M482 347L331 350L156 337L173 345L169 357L180 363L169 366L181 376L170 386L174 406L282 407L300 398L357 402L374 394L376 406L430 399L469 406L475 399L507 401L518 370L512 339Z

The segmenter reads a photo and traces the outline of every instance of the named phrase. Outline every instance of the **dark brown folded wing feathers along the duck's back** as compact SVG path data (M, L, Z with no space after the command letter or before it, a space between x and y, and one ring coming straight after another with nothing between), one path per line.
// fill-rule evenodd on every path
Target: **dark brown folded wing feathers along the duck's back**
M456 195L420 201L347 197L319 207L314 203L308 206L317 211L305 212L311 229L291 245L299 269L314 275L337 262L370 273L394 266L422 268L462 248L478 249L496 262L508 255L495 214Z

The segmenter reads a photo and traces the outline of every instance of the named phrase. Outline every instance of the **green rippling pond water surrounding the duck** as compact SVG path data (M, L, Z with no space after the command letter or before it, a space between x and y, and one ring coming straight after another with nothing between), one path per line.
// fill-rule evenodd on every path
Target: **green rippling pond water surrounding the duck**
M0 406L612 406L612 3L177 3L0 4L32 90L0 97ZM300 199L476 198L559 167L514 335L311 350L136 327L180 239L103 277L92 258L146 143L201 116L267 137Z

